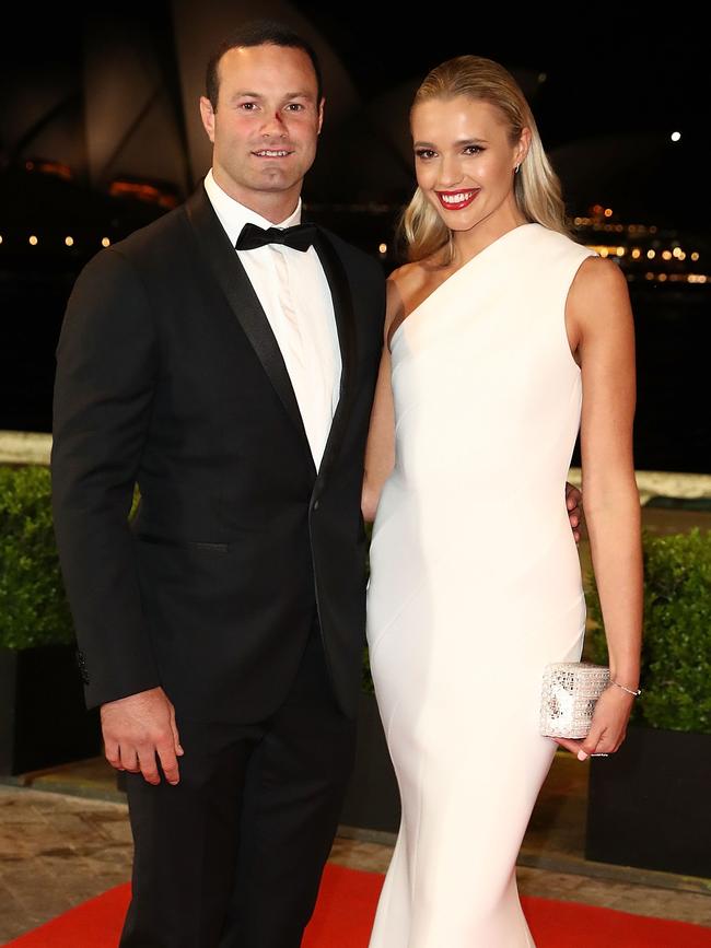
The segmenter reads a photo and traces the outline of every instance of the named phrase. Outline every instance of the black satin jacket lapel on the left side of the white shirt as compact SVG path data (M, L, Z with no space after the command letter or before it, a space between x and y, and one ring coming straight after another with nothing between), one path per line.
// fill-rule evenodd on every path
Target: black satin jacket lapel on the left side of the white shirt
M226 296L287 413L299 429L315 472L316 468L306 437L306 430L279 343L271 330L259 297L242 266L237 251L224 233L203 187L198 188L185 207L188 220L198 238L200 253Z

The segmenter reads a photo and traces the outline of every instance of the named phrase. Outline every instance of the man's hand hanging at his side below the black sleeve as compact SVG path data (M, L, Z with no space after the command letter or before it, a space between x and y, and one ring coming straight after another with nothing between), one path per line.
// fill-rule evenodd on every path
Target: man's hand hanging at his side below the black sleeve
M177 758L184 751L175 710L162 688L109 701L102 705L101 717L106 760L112 766L142 773L148 783L159 784L158 754L167 782L178 783Z

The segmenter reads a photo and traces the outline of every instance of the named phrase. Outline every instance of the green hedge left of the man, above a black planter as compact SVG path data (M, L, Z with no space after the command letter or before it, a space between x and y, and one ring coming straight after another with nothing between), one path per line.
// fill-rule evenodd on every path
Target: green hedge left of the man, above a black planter
M74 641L50 498L47 468L0 467L0 646Z

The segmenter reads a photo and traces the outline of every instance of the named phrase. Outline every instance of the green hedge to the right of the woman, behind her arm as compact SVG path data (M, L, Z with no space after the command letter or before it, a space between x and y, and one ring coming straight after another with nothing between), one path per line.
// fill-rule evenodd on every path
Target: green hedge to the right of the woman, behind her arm
M645 534L642 697L632 721L669 730L711 733L711 531ZM595 628L592 660L607 663L599 597L587 589ZM587 651L587 649L586 649Z

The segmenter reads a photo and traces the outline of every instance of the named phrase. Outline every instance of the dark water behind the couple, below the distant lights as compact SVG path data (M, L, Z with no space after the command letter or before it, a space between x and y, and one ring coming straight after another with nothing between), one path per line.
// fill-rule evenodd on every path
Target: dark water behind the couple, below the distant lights
M330 222L329 222L330 223ZM337 229L337 227L335 227ZM377 232L340 227L373 251ZM0 259L0 429L51 430L55 347L78 269L45 258ZM394 261L384 261L389 271ZM638 348L636 466L711 471L711 285L631 284ZM578 458L574 458L578 463Z

